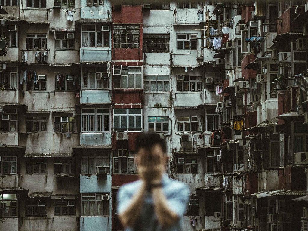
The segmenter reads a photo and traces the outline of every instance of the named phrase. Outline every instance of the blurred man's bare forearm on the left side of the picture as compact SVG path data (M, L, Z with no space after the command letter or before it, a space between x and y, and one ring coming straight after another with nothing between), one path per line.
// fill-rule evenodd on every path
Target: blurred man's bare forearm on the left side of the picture
M140 216L145 191L146 184L143 183L140 190L132 197L132 201L128 208L120 214L120 221L125 227L132 227L135 224L137 217Z

